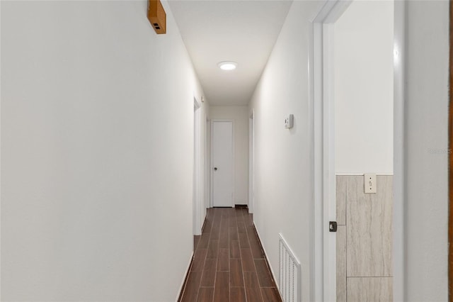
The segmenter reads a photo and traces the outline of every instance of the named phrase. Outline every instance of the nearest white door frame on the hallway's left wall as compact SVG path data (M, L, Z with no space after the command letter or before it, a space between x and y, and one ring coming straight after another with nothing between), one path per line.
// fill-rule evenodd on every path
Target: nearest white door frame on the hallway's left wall
M201 104L193 98L193 235L201 235Z

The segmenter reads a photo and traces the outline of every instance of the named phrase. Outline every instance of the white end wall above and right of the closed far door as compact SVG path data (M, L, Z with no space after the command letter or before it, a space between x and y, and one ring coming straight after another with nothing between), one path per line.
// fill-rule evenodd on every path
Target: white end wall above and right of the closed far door
M210 118L234 120L234 203L248 203L248 107L210 106Z

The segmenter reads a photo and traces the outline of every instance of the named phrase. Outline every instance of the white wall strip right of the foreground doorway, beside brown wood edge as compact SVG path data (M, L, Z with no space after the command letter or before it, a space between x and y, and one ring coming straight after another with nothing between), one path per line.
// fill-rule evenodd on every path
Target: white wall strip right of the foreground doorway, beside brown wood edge
M407 18L406 301L447 301L449 2Z

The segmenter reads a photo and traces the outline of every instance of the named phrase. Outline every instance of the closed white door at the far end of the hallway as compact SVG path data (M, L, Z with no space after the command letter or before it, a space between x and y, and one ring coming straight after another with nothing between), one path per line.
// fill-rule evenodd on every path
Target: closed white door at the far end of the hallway
M233 122L212 121L212 204L234 206Z

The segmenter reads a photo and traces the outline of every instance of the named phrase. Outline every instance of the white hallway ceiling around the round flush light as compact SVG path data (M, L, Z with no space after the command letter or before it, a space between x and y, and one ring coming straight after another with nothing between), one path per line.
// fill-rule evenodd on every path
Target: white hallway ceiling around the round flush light
M292 1L169 1L205 97L211 105L246 105ZM234 71L217 64L234 61Z

